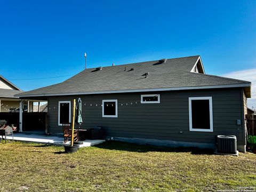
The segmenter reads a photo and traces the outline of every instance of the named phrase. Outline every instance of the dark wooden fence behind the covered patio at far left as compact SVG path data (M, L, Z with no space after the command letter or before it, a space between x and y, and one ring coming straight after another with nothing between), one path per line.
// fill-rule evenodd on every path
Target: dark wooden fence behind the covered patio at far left
M0 119L7 121L7 125L17 126L19 130L19 113L1 112ZM47 113L22 113L22 131L45 131L47 127Z

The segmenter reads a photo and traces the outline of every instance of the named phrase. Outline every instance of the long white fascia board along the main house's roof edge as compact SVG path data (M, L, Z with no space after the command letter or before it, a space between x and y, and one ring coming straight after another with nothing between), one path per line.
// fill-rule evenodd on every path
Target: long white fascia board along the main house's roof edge
M62 95L84 95L84 94L108 94L108 93L134 93L134 92L153 92L153 91L179 91L179 90L200 90L200 89L221 89L231 87L249 87L251 83L231 84L231 85L207 85L207 86L188 86L188 87L166 87L155 89L137 89L137 90L115 90L115 91L94 91L94 92L76 92L76 93L45 93L45 94L27 94L17 95L19 98L27 97L47 97Z

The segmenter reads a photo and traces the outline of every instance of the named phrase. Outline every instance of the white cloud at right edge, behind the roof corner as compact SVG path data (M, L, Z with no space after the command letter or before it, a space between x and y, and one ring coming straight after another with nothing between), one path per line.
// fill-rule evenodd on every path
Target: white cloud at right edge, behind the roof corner
M252 82L252 97L247 100L247 106L250 108L252 108L252 106L256 107L256 68L234 71L228 74L224 74L222 76Z

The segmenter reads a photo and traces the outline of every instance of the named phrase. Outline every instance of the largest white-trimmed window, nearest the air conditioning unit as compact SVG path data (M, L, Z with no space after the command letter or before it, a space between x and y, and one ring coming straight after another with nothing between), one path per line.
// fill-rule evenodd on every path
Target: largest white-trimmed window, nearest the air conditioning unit
M213 132L212 97L189 98L189 131Z

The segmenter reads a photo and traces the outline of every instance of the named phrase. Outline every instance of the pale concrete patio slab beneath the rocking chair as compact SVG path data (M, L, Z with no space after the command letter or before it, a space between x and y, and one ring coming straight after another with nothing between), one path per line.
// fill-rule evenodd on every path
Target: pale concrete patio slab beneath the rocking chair
M64 143L63 137L61 136L52 136L52 135L44 135L44 134L33 134L33 133L14 133L13 135L14 141L26 141L26 142L37 142L37 143L47 143L58 146L70 145L70 141ZM7 136L7 140L12 140L12 136ZM106 140L85 140L82 145L79 147L90 147L94 145L98 145L100 143L105 142Z

